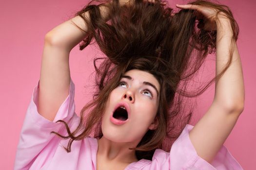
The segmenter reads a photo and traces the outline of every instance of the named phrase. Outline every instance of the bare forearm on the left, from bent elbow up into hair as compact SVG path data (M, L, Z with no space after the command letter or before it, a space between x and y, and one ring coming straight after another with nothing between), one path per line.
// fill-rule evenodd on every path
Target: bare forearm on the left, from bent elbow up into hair
M101 16L104 20L108 19L108 10L104 6L99 6ZM84 17L90 19L89 11L83 13ZM84 32L82 30L84 30ZM88 31L87 24L80 16L73 17L52 29L46 34L46 41L53 46L58 46L67 51L71 51L79 42L86 37Z

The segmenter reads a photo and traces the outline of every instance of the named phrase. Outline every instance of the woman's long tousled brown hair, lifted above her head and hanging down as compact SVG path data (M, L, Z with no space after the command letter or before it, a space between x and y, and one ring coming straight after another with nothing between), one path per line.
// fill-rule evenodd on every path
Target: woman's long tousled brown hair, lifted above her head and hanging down
M65 148L67 152L71 152L74 140L81 140L90 133L94 132L94 137L99 139L103 136L102 112L110 92L118 86L120 77L126 71L144 70L153 74L160 84L156 116L159 125L156 130L149 130L138 146L131 149L136 150L138 160L152 160L157 148L170 151L172 143L191 120L193 107L185 110L185 105L188 105L185 99L202 94L217 81L229 67L232 55L226 67L207 85L196 91L187 91L189 81L207 55L216 51L217 31L202 29L203 21L196 20L193 10L180 10L172 16L173 9L160 5L158 0L155 4L134 0L132 6L119 6L118 0L112 0L111 5L91 4L95 1L103 2L90 1L76 16L84 19L89 30L79 46L80 50L95 38L100 50L107 56L94 59L97 90L93 100L82 108L80 123L74 132L70 132L65 121L58 120L65 124L68 136L51 133L64 139L70 138ZM231 21L233 39L237 40L238 26L227 6L204 0L196 0L191 4L210 6L226 14ZM110 11L107 22L100 16L101 5ZM91 20L83 15L86 11L89 11ZM99 65L98 61L101 61Z

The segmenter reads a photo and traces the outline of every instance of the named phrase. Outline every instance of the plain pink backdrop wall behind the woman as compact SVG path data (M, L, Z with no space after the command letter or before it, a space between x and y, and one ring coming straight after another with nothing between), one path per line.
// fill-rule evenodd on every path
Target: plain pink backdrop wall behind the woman
M87 1L86 1L87 2ZM181 1L179 1L182 3ZM228 5L238 22L237 41L245 83L245 108L224 143L244 170L256 170L256 19L254 0L219 0ZM177 1L169 2L174 7ZM183 2L184 3L184 2ZM0 1L0 170L12 170L16 147L32 89L39 79L44 35L69 19L85 4L84 0L1 0ZM93 58L96 46L70 53L71 77L76 85L76 113L91 99ZM214 62L208 63L214 71ZM206 70L206 69L205 69ZM89 82L89 83L88 83ZM214 84L198 97L194 122L206 112L214 97ZM191 123L192 124L192 123Z

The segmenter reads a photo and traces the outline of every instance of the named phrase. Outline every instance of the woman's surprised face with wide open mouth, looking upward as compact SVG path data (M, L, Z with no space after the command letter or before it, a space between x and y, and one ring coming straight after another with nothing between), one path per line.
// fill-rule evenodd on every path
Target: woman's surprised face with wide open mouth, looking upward
M137 69L127 71L106 103L103 136L114 142L138 143L149 129L156 129L159 92L160 85L152 74Z

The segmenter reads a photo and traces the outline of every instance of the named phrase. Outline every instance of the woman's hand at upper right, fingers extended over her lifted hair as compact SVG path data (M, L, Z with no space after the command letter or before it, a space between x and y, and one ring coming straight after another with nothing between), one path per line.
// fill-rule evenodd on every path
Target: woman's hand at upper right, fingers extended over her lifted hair
M196 19L202 20L203 22L198 25L198 28L203 28L207 31L214 31L217 30L216 26L216 17L217 17L217 9L200 6L200 5L192 5L192 4L186 4L186 5L176 5L177 8L180 9L190 9L196 11Z

